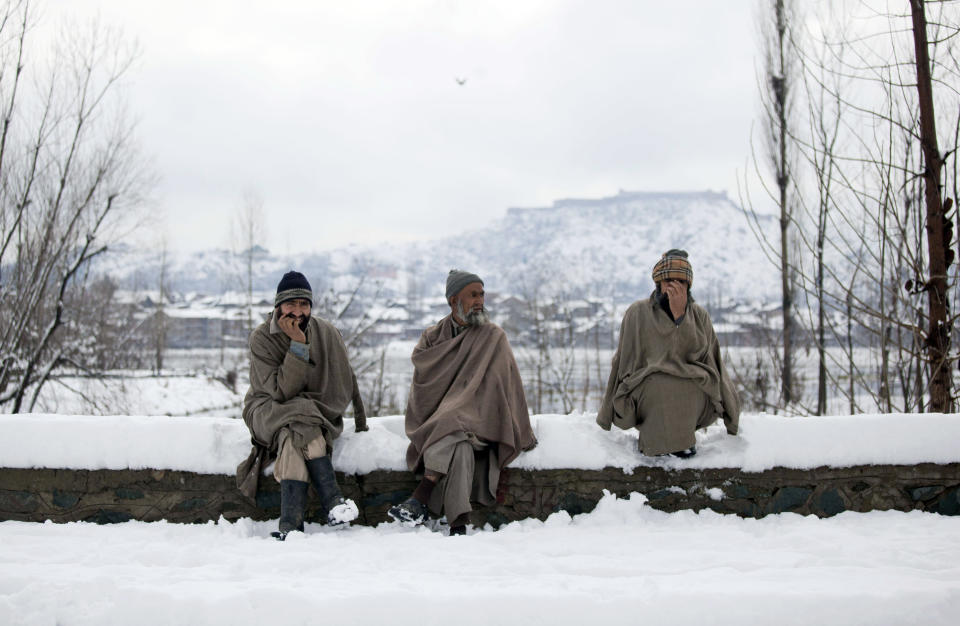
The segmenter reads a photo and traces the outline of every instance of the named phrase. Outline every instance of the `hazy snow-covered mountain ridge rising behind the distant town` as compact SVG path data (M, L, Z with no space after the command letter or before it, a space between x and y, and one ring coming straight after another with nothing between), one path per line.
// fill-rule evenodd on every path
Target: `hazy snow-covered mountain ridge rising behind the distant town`
M759 220L764 229L775 227L773 217ZM494 292L529 296L563 290L631 301L652 289L653 264L670 248L689 252L699 299L770 301L778 293L776 268L743 211L726 194L711 191L620 191L599 199L557 200L550 207L510 208L488 226L433 241L354 244L295 258L256 248L253 283L255 290L272 290L279 276L295 267L315 291L366 275L395 296L415 290L429 297L442 293L447 271L457 267L478 273ZM246 263L244 254L204 250L172 256L166 275L179 292L243 290ZM127 248L101 269L126 287L150 289L158 284L160 255Z

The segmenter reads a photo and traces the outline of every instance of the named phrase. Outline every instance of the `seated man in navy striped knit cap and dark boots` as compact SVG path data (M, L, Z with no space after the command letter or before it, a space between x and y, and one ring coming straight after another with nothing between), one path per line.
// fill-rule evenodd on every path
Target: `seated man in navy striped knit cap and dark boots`
M307 490L312 483L327 524L343 526L358 516L344 498L331 463L332 444L343 431L351 402L356 430L366 430L357 377L343 339L332 324L311 316L313 291L300 272L287 272L277 285L270 318L250 335L250 390L243 420L253 450L237 468L240 490L256 497L263 467L276 458L280 483L281 541L303 531Z

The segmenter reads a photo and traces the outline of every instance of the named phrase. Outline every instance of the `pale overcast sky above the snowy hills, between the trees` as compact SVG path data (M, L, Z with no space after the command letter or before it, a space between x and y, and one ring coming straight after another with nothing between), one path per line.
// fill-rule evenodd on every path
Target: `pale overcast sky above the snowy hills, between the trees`
M736 199L754 6L48 0L44 20L139 42L129 102L171 247L228 245L254 191L269 248L316 251L619 189Z

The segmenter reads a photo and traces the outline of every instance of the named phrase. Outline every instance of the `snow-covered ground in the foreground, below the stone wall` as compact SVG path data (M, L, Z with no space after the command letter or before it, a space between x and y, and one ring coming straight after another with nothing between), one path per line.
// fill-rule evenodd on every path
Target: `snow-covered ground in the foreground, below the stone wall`
M960 519L662 513L641 495L496 532L0 523L0 623L955 624Z

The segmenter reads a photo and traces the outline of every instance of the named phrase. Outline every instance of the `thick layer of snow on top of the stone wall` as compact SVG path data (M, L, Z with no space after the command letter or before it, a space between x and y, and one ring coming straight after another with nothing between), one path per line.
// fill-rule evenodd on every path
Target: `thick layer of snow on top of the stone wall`
M535 415L540 444L511 467L601 469L639 466L740 468L960 462L960 415L880 414L789 418L741 416L739 436L722 424L697 433L698 454L687 460L650 458L636 449L634 431L601 430L596 414ZM356 433L346 420L334 466L349 474L406 470L403 417L370 418ZM227 417L0 415L0 467L170 469L233 474L250 451L244 423Z

